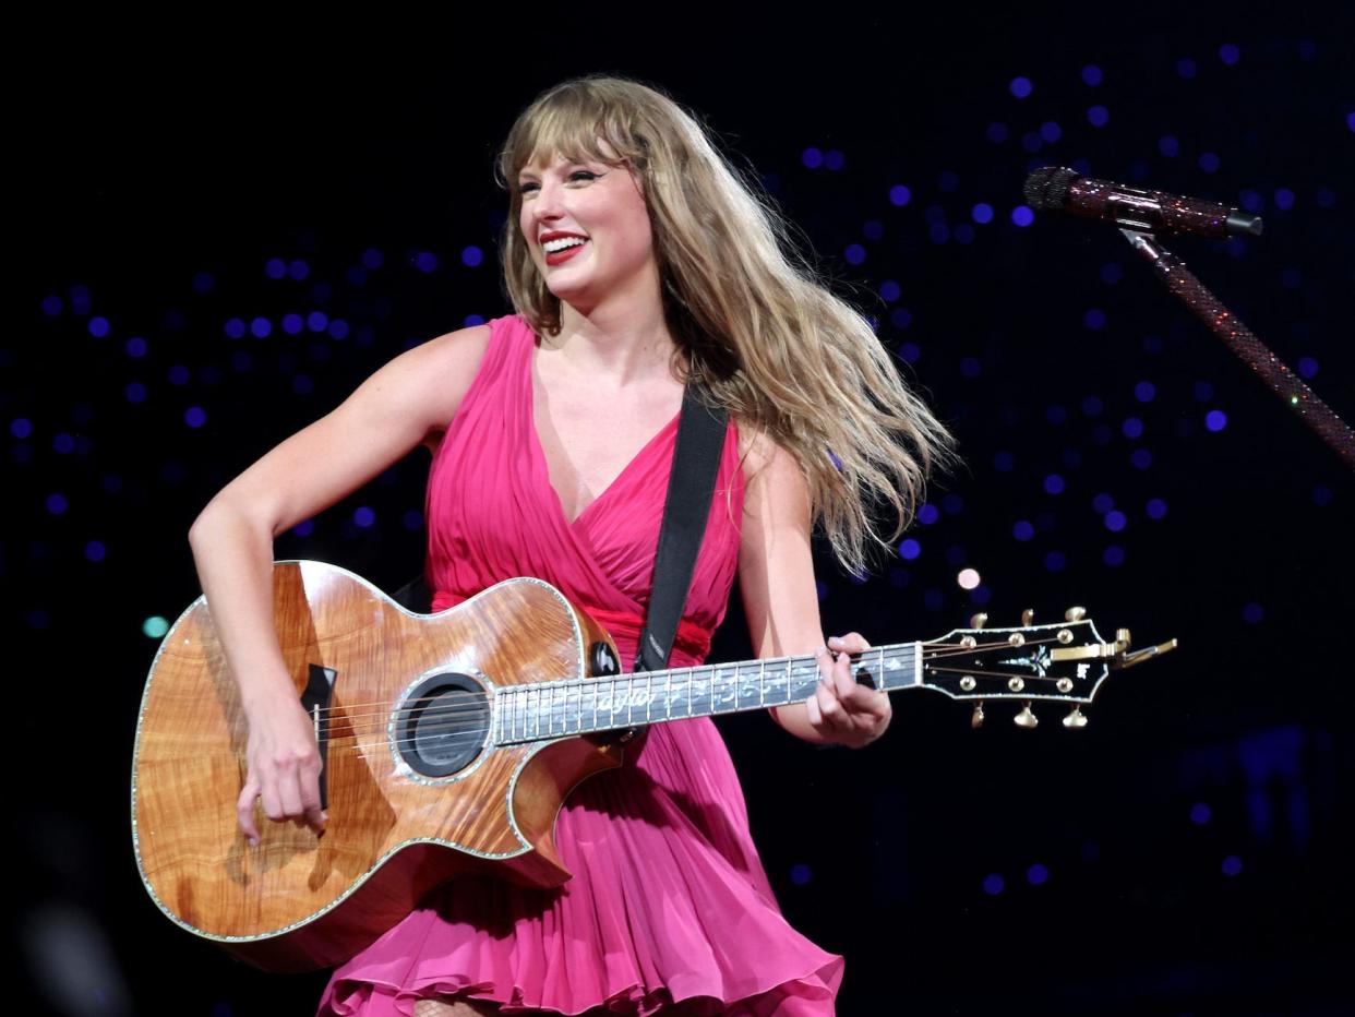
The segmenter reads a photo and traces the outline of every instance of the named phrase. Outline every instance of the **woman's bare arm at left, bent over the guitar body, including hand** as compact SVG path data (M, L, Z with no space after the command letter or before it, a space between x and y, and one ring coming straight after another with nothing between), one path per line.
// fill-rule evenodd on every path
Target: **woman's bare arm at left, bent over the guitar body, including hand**
M240 829L257 842L255 801L270 819L317 830L320 753L272 621L272 540L362 487L446 427L470 388L488 325L432 339L393 359L341 405L287 438L224 487L188 532L202 591L249 723Z

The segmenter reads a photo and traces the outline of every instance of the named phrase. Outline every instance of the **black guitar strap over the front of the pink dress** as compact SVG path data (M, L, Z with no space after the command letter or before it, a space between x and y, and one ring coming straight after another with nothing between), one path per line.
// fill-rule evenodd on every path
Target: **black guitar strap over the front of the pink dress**
M668 664L682 609L691 590L696 552L710 518L726 420L724 408L709 405L695 385L687 385L678 420L678 445L668 477L664 519L659 529L654 584L635 656L637 671L656 671Z

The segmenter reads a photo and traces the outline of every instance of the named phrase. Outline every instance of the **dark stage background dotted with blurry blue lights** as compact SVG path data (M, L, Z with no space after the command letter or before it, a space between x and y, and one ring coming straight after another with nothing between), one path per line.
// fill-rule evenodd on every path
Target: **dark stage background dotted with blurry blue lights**
M1355 420L1341 7L817 8L657 37L568 8L360 42L207 27L192 49L53 27L11 96L0 340L19 1012L313 1008L321 975L240 965L140 885L129 763L157 635L198 594L186 533L396 353L504 312L492 155L588 71L702 111L959 438L912 542L869 578L820 559L829 632L1084 603L1103 633L1182 640L1081 732L996 706L973 732L925 693L860 753L721 721L783 909L847 957L840 1012L1351 1012L1355 479L1114 228L1022 210L1026 174L1064 164L1263 214L1259 240L1169 243ZM425 468L278 556L400 586ZM736 598L715 659L747 652Z

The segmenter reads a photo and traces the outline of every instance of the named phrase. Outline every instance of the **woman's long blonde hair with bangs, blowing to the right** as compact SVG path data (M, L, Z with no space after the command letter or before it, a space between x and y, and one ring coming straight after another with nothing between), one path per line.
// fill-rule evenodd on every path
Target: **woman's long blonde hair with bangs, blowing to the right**
M888 546L908 526L927 473L951 456L946 428L909 392L870 323L793 254L780 216L682 107L635 81L583 77L542 92L499 156L512 195L504 281L538 332L558 334L560 301L519 232L514 183L523 165L556 155L621 161L637 175L688 377L795 457L837 560L863 568L870 545ZM883 507L897 519L888 536Z

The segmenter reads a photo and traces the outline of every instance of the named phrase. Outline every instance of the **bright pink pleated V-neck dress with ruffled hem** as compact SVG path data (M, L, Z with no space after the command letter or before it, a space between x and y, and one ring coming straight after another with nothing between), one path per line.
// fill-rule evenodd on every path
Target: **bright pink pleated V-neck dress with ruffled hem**
M634 662L668 491L676 418L569 523L533 420L535 336L492 338L428 477L428 580L442 610L501 579L539 576L607 625ZM724 618L743 509L738 438L715 499L672 663L699 663ZM573 879L526 890L454 880L335 971L321 1014L409 1014L463 994L514 1010L606 1005L799 1017L833 1013L843 960L787 925L753 849L743 791L709 719L653 725L625 765L565 801L556 842Z

